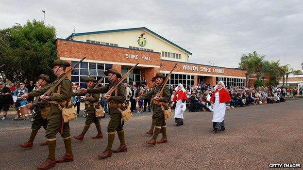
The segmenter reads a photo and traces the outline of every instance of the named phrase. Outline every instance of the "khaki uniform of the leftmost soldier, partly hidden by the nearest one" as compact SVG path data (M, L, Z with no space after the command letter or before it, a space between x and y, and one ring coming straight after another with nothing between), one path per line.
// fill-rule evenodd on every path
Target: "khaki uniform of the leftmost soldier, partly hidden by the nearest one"
M41 86L41 88L48 87L50 86L49 84L45 84ZM39 96L36 97L36 100L33 103L33 108L35 111L34 114L34 122L32 124L32 129L34 130L39 130L41 126L43 126L44 129L46 129L47 124L49 123L48 119L43 119L41 116L41 109L44 108L49 108L50 107L50 102L49 101L42 101Z

